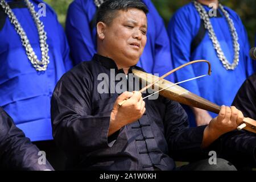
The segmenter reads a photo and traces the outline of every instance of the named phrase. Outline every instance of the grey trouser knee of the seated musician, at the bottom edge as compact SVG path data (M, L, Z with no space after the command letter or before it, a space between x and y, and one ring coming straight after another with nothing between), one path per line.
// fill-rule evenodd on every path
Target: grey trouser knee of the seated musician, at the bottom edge
M228 160L217 158L216 164L211 165L208 159L204 159L177 167L175 171L237 171L237 169Z

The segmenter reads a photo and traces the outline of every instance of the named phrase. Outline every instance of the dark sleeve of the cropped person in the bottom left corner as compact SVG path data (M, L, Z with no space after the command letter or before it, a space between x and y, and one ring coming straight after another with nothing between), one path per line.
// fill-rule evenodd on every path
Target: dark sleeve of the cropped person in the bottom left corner
M0 107L0 168L9 170L53 170L39 163L39 149L15 126L13 119Z

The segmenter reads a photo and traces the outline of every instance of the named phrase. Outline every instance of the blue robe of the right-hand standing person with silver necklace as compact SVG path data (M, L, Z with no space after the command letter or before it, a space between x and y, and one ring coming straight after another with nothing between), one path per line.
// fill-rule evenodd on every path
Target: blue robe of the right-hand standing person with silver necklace
M210 10L208 6L204 6L207 12ZM172 16L168 24L168 35L171 44L171 56L174 67L187 63L192 60L208 60L212 65L212 75L199 78L197 80L180 84L185 89L214 102L217 105L231 105L234 97L243 81L253 73L251 59L249 57L249 42L246 30L243 27L240 17L228 7L224 7L228 11L230 18L234 22L238 34L238 43L240 44L240 61L238 67L234 71L226 71L221 61L218 59L212 40L210 40L208 32L205 32L203 40L197 45L192 46L193 40L197 36L200 28L200 15L193 3L189 3L181 7ZM230 63L233 63L233 46L232 35L226 22L225 16L220 10L218 16L210 18L214 32L216 33L218 42L224 52L224 55ZM186 80L188 78L205 75L208 71L208 65L205 63L197 63L189 65L176 72L177 81ZM187 108L191 125L195 125L193 114ZM216 114L210 113L212 117Z

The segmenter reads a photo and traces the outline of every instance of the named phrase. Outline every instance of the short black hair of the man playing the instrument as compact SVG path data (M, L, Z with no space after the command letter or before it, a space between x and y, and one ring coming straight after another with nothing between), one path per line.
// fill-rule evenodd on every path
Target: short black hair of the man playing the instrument
M145 14L148 13L147 6L141 0L106 0L98 9L96 23L110 24L115 18L116 11L131 8L142 10Z

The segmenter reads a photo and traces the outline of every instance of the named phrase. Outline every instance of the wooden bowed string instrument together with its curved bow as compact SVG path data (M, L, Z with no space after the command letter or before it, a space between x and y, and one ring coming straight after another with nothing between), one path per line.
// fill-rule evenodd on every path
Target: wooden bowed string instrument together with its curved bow
M164 96L173 101L180 102L181 104L185 104L192 107L198 107L200 109L212 111L213 113L218 114L220 112L220 108L221 108L220 106L214 104L213 102L205 100L204 98L199 97L196 94L189 92L188 90L182 88L181 86L177 86L176 84L163 79L164 77L170 75L171 73L177 71L180 68L183 68L189 64L198 63L198 62L208 63L209 65L208 75L210 75L210 63L209 61L206 61L206 60L196 60L196 61L191 61L189 63L183 64L180 67L177 67L172 71L166 73L162 77L157 77L149 73L138 71L137 69L133 69L133 73L134 73L134 76L137 76L142 82L148 84L143 89L141 89L140 92L143 92L144 90L150 88L150 86L152 85L158 86L160 91L158 92L161 96ZM192 80L192 79L189 79L189 80ZM119 103L119 106L122 106L122 104L125 101L126 100ZM238 126L237 129L238 130L245 129L247 131L256 133L256 121L251 118L244 118L242 124Z

